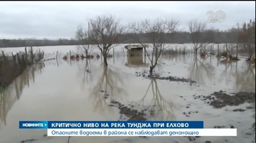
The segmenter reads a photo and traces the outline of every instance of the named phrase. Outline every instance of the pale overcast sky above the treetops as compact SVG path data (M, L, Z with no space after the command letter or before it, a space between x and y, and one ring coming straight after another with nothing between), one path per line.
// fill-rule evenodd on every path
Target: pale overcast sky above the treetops
M179 30L188 30L188 21L207 22L208 11L224 11L222 23L207 27L226 30L255 18L255 1L250 2L144 2L144 1L0 1L0 39L74 38L77 26L99 14L114 14L122 24L155 18L177 18Z

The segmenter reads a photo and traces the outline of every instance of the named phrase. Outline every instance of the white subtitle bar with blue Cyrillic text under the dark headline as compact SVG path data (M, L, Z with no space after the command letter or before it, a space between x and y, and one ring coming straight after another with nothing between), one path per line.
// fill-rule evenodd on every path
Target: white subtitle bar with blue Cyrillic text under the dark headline
M237 136L237 129L47 129L48 136Z

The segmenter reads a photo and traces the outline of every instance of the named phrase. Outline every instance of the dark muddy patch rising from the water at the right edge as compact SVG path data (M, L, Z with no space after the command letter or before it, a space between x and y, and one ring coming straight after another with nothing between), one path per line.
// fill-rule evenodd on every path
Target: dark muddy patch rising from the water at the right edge
M214 108L222 108L227 105L237 106L245 102L252 103L255 102L255 93L253 92L237 92L232 94L227 94L224 91L214 92L209 96L193 95L194 99L201 99L209 105L212 105ZM253 107L247 107L250 109ZM245 109L236 109L233 111L245 111Z

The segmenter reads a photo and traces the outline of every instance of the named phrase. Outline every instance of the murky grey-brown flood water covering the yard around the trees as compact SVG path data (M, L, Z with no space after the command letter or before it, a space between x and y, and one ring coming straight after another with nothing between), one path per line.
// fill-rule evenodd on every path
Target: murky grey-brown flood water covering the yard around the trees
M18 52L24 48L0 49ZM55 57L75 46L43 47L47 57ZM122 50L120 50L122 51ZM125 51L124 51L125 52ZM35 64L17 77L0 95L0 142L67 142L68 137L47 137L47 130L19 129L20 120L126 120L119 109L110 106L112 100L134 108L153 108L147 120L204 120L204 128L224 126L237 128L236 137L71 137L79 142L255 142L255 101L239 106L213 108L193 95L213 92L254 92L255 66L245 58L225 63L215 55L207 58L192 54L165 55L159 59L155 73L192 79L196 83L146 79L147 57L127 58L117 52L104 67L101 58L91 60L49 60ZM141 75L140 75L141 74ZM147 76L147 75L146 75ZM107 95L107 97L106 97ZM189 107L188 107L189 106ZM239 112L234 109L248 110ZM252 126L254 124L254 130Z

